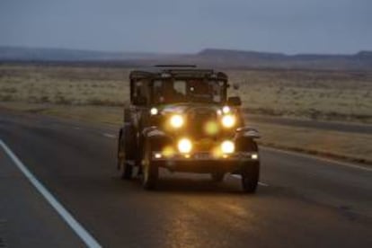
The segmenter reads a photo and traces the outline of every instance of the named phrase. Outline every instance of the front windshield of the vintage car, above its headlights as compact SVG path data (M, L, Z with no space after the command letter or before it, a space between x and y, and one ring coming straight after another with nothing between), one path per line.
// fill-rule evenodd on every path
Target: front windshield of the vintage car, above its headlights
M206 79L163 79L153 84L153 102L211 102L226 100L225 82Z

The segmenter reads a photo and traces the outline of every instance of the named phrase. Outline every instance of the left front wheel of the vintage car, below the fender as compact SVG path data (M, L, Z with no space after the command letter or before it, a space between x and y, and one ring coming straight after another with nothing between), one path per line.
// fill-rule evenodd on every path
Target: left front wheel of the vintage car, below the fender
M150 142L146 142L142 159L142 185L146 190L154 190L158 179L158 167L152 161Z

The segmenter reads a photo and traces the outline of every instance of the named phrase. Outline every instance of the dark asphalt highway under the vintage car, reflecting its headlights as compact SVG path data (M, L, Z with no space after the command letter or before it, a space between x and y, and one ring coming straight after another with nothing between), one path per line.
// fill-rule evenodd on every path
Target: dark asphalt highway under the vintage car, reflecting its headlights
M368 167L261 148L255 195L242 194L232 176L218 184L208 176L167 172L158 190L145 191L116 173L115 135L114 128L0 110L0 139L103 247L372 247ZM9 173L1 173L11 164L3 151L0 204L10 195L28 202L22 208L41 204L30 183L17 190ZM17 243L6 236L30 235L13 231L17 223L33 230L38 247L50 247L42 243L46 233L60 235L60 246L83 245L53 208L29 211L22 224L16 209L0 208L0 227L4 218L13 226L0 228L0 241L5 234L10 247Z

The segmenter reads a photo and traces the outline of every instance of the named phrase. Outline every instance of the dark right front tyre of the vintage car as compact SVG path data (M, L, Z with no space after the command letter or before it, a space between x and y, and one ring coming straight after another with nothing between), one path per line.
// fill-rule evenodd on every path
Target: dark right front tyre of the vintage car
M260 163L246 164L242 171L242 188L245 193L254 193L260 177Z

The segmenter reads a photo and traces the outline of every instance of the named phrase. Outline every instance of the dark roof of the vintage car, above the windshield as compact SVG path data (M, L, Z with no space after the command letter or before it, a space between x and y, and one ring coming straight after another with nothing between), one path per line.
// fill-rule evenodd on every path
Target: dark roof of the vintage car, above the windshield
M162 77L190 77L190 78L217 78L227 81L227 75L210 68L200 68L192 65L160 65L138 68L130 72L130 79L162 78Z

